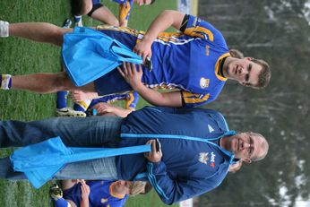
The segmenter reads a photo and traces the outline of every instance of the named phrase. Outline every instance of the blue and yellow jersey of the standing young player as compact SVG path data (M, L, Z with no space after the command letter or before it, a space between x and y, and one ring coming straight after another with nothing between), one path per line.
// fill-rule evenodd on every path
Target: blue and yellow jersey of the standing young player
M219 30L197 17L185 15L178 33L162 32L152 44L154 70L142 82L151 88L177 88L186 107L216 99L226 78L218 75L220 59L229 56Z

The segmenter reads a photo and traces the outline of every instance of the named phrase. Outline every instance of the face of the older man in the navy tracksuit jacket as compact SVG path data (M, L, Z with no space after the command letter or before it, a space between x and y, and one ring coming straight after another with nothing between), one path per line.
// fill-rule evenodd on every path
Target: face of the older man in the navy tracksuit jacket
M228 151L235 154L235 158L251 162L255 158L261 158L265 153L263 138L256 134L241 133L228 137ZM230 149L229 149L230 148Z

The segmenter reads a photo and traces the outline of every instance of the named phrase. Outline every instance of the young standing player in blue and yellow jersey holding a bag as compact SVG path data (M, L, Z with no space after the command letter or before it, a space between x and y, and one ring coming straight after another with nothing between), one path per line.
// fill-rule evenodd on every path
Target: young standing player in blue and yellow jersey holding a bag
M161 32L169 26L181 32ZM10 33L58 46L63 43L65 32L71 31L47 23L8 25L0 22L0 28L2 37ZM164 11L146 33L111 26L99 26L97 30L133 48L143 61L150 58L153 69L124 63L118 72L113 70L82 87L75 86L65 72L16 75L12 78L3 75L2 88L41 93L96 91L99 96L137 91L153 105L195 107L216 99L228 79L255 89L264 88L270 82L271 71L267 63L252 57L239 59L230 56L220 31L191 15ZM83 29L75 31L81 33ZM157 89L177 91L159 92Z

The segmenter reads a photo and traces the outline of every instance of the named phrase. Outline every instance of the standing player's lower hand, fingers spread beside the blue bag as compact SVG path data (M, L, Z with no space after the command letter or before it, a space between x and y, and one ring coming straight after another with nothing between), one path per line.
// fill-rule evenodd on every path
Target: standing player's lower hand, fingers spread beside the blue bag
M136 90L137 87L142 85L142 67L138 66L138 70L135 69L134 64L123 62L123 70L120 67L117 67L117 70L125 78L125 81L132 86L133 90Z

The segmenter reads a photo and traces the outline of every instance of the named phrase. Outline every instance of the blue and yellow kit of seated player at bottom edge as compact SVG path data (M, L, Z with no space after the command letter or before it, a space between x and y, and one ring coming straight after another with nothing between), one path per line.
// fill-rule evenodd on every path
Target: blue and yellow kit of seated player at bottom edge
M128 195L117 196L112 194L111 186L114 181L94 180L87 181L90 186L90 207L121 207L124 206ZM73 185L73 187L64 191L64 198L70 199L77 206L81 203L81 184Z

